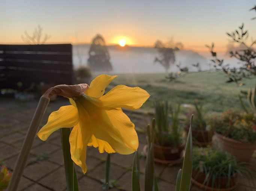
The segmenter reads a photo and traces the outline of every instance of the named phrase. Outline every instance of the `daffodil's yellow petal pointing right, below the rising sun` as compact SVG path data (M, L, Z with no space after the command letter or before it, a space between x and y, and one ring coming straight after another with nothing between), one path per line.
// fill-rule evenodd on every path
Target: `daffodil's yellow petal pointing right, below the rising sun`
M150 97L147 91L139 87L117 85L108 93L100 97L103 106L109 108L124 107L131 110L139 109Z

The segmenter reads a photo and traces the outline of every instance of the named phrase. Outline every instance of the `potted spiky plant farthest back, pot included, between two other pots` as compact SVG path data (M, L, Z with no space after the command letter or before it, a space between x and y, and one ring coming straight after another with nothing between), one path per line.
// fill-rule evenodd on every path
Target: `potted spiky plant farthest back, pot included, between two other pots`
M199 105L197 100L195 100L195 109L196 111L193 112L194 118L191 124L193 144L205 147L211 144L213 131L209 129L202 112L202 105ZM189 114L188 116L191 115ZM190 119L187 118L184 127L186 132L189 132L189 125Z

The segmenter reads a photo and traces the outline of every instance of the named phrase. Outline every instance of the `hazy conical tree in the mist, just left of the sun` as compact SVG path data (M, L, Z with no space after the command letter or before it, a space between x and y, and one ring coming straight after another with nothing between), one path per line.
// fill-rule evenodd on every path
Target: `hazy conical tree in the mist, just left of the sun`
M92 71L111 71L112 65L109 62L110 56L104 38L97 34L93 38L89 50L88 66Z

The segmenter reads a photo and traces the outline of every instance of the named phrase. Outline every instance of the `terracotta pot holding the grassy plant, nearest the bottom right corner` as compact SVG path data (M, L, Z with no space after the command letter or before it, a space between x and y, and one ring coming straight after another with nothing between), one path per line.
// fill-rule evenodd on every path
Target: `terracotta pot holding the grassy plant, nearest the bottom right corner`
M217 176L213 182L213 179L210 178L208 184L203 184L206 178L206 174L200 172L199 170L192 169L192 183L201 188L202 190L209 191L230 191L234 190L238 184L238 173L235 173L231 176L228 188L228 177L227 176Z

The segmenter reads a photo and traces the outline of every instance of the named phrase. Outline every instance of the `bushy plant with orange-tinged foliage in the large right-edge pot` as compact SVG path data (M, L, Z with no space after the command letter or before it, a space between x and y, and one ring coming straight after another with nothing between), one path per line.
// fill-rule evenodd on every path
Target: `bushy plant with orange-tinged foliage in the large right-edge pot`
M229 110L209 120L211 129L219 134L244 143L255 143L256 121L253 113Z

